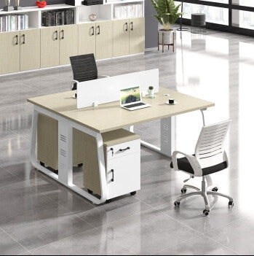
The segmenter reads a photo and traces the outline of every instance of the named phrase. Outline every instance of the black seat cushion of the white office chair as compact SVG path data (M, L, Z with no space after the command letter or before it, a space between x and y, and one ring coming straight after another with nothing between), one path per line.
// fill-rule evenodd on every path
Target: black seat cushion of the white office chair
M195 156L195 155L194 155ZM173 168L173 163L170 163L170 167ZM215 166L209 166L206 168L202 168L202 176L214 174L217 171L222 171L228 167L226 161L223 163L218 163ZM187 158L178 158L178 169L182 171L186 171L189 174L194 174L194 170L191 167L191 164L188 162Z

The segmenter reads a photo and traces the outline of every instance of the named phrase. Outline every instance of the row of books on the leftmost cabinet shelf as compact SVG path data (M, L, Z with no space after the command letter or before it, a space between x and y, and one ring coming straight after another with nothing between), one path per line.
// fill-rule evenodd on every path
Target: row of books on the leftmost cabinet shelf
M28 15L1 15L0 32L18 31L29 28Z

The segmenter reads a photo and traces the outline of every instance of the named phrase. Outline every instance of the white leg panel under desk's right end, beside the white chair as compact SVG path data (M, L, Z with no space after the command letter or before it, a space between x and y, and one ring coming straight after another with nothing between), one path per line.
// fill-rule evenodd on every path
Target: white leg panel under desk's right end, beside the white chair
M161 153L169 157L175 150L175 117L161 119Z

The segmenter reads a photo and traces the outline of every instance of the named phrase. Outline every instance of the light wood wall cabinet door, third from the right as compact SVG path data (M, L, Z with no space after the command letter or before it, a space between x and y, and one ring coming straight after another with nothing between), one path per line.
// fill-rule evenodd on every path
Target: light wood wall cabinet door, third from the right
M112 57L112 21L96 23L96 59Z

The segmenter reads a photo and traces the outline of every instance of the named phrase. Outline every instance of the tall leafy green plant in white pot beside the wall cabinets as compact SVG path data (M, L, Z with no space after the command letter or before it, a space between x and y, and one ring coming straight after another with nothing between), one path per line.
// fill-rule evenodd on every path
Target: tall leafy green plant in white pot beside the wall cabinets
M159 30L159 44L162 44L162 33L164 33L164 44L173 44L173 29L170 26L183 14L178 12L181 4L175 6L174 0L151 0L151 3L157 12L154 17L164 26L164 29Z

